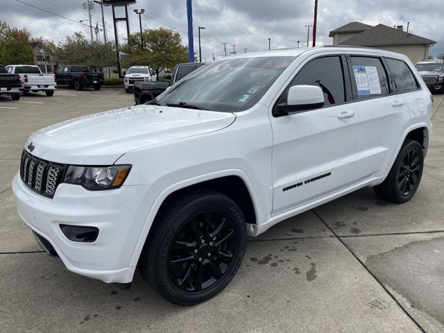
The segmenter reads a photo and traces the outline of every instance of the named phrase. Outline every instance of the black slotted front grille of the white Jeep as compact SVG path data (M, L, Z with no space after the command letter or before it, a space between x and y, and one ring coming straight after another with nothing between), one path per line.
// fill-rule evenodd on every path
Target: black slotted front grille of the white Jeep
M29 188L42 196L53 198L65 171L65 166L56 164L23 151L20 177Z

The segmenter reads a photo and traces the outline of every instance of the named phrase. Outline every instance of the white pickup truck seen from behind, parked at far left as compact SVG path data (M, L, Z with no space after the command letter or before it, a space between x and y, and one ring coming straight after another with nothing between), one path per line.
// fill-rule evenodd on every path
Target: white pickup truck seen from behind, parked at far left
M19 74L22 79L22 92L45 92L46 96L53 96L56 89L56 76L42 74L38 66L8 65L6 70L11 74Z

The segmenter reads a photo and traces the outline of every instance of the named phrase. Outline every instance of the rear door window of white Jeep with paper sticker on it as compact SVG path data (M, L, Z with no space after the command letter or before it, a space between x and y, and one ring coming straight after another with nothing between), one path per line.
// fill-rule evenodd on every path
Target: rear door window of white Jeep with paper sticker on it
M387 74L381 59L354 56L350 58L358 99L389 94Z

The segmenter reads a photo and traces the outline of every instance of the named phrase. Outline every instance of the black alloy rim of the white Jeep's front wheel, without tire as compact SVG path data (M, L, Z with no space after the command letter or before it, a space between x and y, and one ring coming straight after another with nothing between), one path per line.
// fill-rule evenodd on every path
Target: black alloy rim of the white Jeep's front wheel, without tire
M221 211L191 216L169 250L171 280L183 291L202 291L217 283L237 253L232 220Z

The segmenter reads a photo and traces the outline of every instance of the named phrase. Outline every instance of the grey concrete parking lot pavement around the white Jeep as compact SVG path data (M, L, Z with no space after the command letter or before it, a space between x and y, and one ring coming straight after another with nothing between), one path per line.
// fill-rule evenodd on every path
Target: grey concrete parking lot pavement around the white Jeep
M37 246L10 184L23 144L44 126L133 105L122 89L0 96L0 332L444 332L444 101L413 199L361 189L250 239L228 288L177 307L133 287L70 273Z

